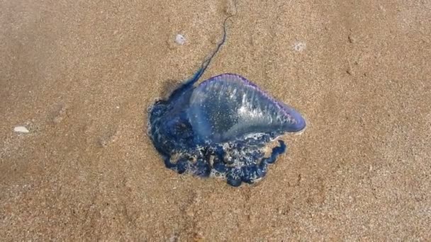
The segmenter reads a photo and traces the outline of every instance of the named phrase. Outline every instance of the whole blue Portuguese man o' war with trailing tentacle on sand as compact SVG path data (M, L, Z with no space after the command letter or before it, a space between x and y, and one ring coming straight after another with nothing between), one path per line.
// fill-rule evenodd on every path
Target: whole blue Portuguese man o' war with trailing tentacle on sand
M306 127L301 114L237 74L220 74L194 86L223 39L194 76L149 110L149 135L165 166L177 173L255 183L286 151L278 138ZM278 139L278 146L269 148Z

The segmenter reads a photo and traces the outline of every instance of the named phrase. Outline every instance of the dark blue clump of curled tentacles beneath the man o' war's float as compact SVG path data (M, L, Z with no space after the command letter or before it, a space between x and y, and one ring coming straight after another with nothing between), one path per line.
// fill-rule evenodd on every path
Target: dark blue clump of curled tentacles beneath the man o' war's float
M255 134L245 139L220 144L195 144L193 129L185 119L167 120L169 104L157 103L150 110L150 137L164 157L164 163L178 173L217 177L228 184L254 183L267 173L269 164L286 151L286 144L272 148L265 156L266 145L276 134ZM177 117L181 117L177 116Z

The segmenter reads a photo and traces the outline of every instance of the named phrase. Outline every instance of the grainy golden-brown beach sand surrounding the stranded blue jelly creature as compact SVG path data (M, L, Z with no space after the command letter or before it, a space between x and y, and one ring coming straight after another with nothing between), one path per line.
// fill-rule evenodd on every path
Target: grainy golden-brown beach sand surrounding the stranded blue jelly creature
M238 0L203 79L241 74L308 121L241 188L169 171L146 134L229 13L0 1L1 241L430 240L431 2Z

